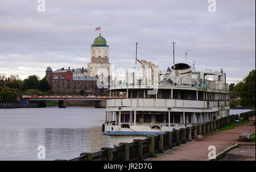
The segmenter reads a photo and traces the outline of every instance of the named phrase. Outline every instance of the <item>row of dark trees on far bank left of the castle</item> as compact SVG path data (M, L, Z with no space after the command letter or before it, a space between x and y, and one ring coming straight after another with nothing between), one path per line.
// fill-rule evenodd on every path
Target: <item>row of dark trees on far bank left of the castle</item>
M18 102L23 95L40 96L49 89L51 88L45 77L40 79L39 76L30 75L22 80L18 75L6 77L5 74L0 74L0 102Z

